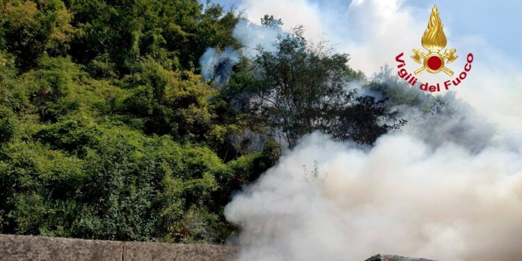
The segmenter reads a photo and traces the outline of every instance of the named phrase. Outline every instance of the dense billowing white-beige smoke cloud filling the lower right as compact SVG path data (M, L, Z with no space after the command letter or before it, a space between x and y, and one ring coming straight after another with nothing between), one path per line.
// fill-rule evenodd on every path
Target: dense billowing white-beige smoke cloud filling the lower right
M363 152L313 134L235 196L226 216L242 227L232 239L244 246L239 260L516 260L520 156L433 148L407 134ZM305 175L314 164L318 176Z

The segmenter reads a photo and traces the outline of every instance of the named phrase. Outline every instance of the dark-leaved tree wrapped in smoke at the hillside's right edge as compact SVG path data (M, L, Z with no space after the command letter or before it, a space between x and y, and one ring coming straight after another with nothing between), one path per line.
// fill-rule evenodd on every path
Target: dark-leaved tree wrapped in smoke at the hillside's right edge
M264 21L267 26L277 24L273 17ZM350 82L362 80L363 75L349 68L346 54L308 45L300 27L280 35L275 46L276 52L260 49L251 63L241 63L225 93L290 148L316 130L371 144L403 123L395 122L397 112L382 102L359 97L350 88Z

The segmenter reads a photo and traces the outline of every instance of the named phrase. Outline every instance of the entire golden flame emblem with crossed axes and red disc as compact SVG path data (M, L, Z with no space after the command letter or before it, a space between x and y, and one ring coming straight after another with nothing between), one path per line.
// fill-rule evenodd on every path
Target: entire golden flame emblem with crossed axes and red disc
M452 76L453 71L445 67L445 63L452 63L457 59L455 52L457 49L445 49L441 55L441 49L446 47L448 40L442 29L443 25L441 17L438 16L437 6L433 6L432 15L429 16L428 28L422 35L422 47L429 51L425 54L423 51L417 48L413 48L413 61L424 65L415 71L415 74L421 74L424 71L431 73L437 73L440 71Z

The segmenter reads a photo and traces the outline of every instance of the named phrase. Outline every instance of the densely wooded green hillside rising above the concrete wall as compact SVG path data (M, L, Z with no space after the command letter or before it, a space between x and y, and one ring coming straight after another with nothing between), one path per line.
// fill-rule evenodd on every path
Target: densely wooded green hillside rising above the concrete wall
M197 0L3 0L0 232L226 240L234 191L314 131L371 145L404 121L363 96L349 56L301 28L242 56L224 84L207 47L240 50L234 10ZM280 21L264 17L262 26ZM379 90L377 83L368 83Z

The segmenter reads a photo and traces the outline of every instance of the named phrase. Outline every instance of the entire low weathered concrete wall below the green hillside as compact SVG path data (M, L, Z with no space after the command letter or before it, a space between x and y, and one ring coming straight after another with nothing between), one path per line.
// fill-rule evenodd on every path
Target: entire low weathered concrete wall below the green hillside
M230 261L238 248L0 235L0 260Z

